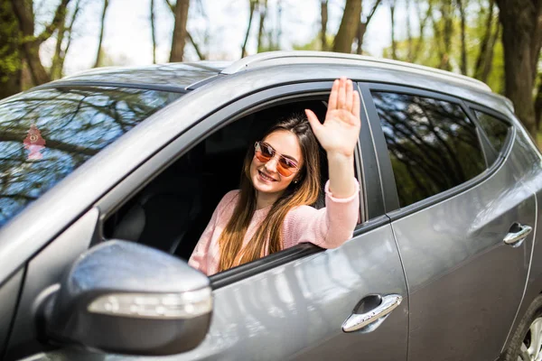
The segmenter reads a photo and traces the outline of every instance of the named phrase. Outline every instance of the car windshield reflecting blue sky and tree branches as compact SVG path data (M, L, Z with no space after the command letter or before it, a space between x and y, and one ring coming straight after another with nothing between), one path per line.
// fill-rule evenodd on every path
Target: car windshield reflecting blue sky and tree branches
M181 97L135 88L45 88L0 103L0 227L156 110Z

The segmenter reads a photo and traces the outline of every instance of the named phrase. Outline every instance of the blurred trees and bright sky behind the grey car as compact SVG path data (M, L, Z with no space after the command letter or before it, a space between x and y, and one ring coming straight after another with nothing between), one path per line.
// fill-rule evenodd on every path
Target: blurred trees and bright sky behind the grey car
M102 66L339 51L487 83L533 136L542 0L0 0L0 98Z

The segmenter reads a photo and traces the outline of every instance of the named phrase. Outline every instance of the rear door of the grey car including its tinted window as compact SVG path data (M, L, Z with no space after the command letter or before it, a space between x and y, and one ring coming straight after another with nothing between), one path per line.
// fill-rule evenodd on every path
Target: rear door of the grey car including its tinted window
M458 99L411 88L364 88L386 144L388 217L409 287L408 359L494 360L522 299L536 199ZM397 187L397 188L396 188ZM395 203L395 204L394 204Z

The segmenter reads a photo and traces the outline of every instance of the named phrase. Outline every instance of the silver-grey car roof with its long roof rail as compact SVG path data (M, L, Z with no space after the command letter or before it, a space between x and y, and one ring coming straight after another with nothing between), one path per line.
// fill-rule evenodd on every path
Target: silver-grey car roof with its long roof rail
M154 64L138 67L104 67L89 69L72 76L52 81L38 88L58 86L130 86L132 88L155 88L163 90L181 91L195 88L197 83L218 78L217 75L233 75L247 70L261 68L279 68L292 65L314 65L319 69L326 65L344 65L371 70L373 75L370 81L379 81L375 78L374 70L382 74L381 81L388 82L387 74L396 73L409 75L412 79L426 78L433 82L444 82L475 92L490 93L499 97L513 112L512 102L477 79L456 74L442 69L425 67L405 61L388 60L362 56L357 54L338 53L330 51L268 51L250 55L237 61L210 61L177 62ZM379 70L382 70L379 72ZM205 81L204 81L205 80ZM363 80L363 79L359 79ZM405 79L397 77L397 84L404 85ZM420 87L420 85L417 85ZM424 87L420 87L424 88Z

